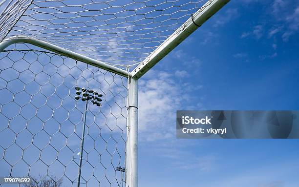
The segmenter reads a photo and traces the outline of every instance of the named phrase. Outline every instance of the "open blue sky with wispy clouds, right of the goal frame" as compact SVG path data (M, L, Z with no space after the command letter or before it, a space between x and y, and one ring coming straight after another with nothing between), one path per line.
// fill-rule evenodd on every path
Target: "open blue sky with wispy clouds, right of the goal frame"
M298 140L174 136L177 109L298 110L298 31L298 1L232 0L154 66L139 83L140 186L299 186Z

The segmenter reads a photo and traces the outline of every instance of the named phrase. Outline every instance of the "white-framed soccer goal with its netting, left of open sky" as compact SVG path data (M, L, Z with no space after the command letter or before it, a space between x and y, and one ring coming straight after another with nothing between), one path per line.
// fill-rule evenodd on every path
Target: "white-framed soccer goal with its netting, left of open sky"
M77 87L76 100L80 99L80 90L85 94L81 99L86 101L86 107L91 92L103 93L105 99L101 110L92 113L95 125L88 126L87 134L82 135L81 161L84 137L88 137L89 143L93 141L93 149L85 151L87 164L80 164L79 172L82 167L82 177L90 186L121 186L122 176L116 171L125 172L126 187L138 187L138 79L228 1L1 1L0 94L7 96L7 100L0 101L0 120L3 121L0 136L16 137L7 137L12 144L0 142L4 149L0 161L7 163L2 174L13 177L10 171L17 166L22 168L7 155L15 154L26 163L23 168L29 176L35 171L33 167L41 165L41 172L51 180L54 180L51 176L57 175L64 183L70 183L66 186L76 183L69 177L73 173L65 169L72 164L64 162L68 152L73 151L71 139L78 138L76 117L81 115L76 106L72 107L74 96L70 93L75 86L86 85L97 90ZM129 71L130 68L133 70ZM122 91L124 88L126 93ZM91 96L90 100L101 106L99 100ZM16 119L21 120L19 124L24 121L26 127L14 131ZM42 124L42 128L32 129L33 123ZM48 124L51 129L55 124L59 128L52 132ZM67 125L75 129L70 134L64 131ZM19 138L23 139L19 141ZM42 146L41 138L49 140ZM53 142L65 139L63 147ZM26 142L28 145L23 145ZM111 144L117 146L111 148ZM41 155L34 164L28 161L29 149ZM18 151L21 154L17 154ZM50 156L52 152L54 162L47 162L44 155ZM124 164L121 164L122 155L125 155ZM90 173L92 176L85 176Z

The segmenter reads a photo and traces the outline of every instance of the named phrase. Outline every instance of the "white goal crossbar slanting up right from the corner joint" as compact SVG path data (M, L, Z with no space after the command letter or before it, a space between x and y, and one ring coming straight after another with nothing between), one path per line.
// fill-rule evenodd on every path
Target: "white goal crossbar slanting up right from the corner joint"
M230 0L209 0L200 8L192 18L189 18L182 26L180 26L165 42L163 42L149 57L140 63L131 73L136 79L143 76L149 69L164 58L178 44L183 42L198 26L201 26L211 16L213 16L222 6Z

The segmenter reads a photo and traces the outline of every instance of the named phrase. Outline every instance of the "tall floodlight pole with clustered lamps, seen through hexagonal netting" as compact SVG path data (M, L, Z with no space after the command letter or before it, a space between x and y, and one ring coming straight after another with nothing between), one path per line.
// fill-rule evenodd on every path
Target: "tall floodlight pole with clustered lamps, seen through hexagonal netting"
M78 171L78 184L77 187L80 187L80 179L81 179L81 166L82 166L82 158L83 158L83 146L84 146L84 138L85 138L85 125L86 125L86 112L87 112L87 106L88 101L91 101L92 104L96 104L97 106L101 106L100 103L102 99L102 94L99 94L93 90L88 90L85 87L78 87L76 86L76 96L75 99L79 100L81 98L82 101L86 101L85 104L85 113L84 113L84 124L83 124L83 130L82 130L82 138L81 138L81 150L80 150L80 161L79 161L79 171ZM82 92L81 92L82 91ZM82 97L80 95L82 94Z

